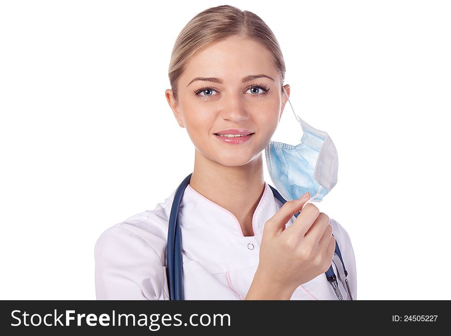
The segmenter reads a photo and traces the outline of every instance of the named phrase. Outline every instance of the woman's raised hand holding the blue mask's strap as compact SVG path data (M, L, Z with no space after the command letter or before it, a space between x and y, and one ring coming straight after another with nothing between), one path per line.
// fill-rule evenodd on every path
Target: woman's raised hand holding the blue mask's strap
M301 284L326 272L332 264L335 238L329 216L309 203L310 194L287 201L264 225L256 276L260 283L293 294ZM292 225L290 218L302 209ZM262 280L264 279L264 280Z

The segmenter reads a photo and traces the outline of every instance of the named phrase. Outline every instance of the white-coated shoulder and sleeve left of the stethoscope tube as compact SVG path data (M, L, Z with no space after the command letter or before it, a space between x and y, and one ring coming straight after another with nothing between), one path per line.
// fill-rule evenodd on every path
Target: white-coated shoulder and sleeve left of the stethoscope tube
M94 248L98 300L165 300L172 198L106 229Z

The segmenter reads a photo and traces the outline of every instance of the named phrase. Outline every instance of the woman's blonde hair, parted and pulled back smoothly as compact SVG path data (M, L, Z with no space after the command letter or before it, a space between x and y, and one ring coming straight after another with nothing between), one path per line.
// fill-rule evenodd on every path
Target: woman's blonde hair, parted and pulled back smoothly
M250 38L268 49L283 85L285 62L272 30L258 15L222 5L198 13L183 27L175 40L169 63L169 82L176 101L177 80L190 59L210 43L235 35ZM282 87L280 91L283 92Z

